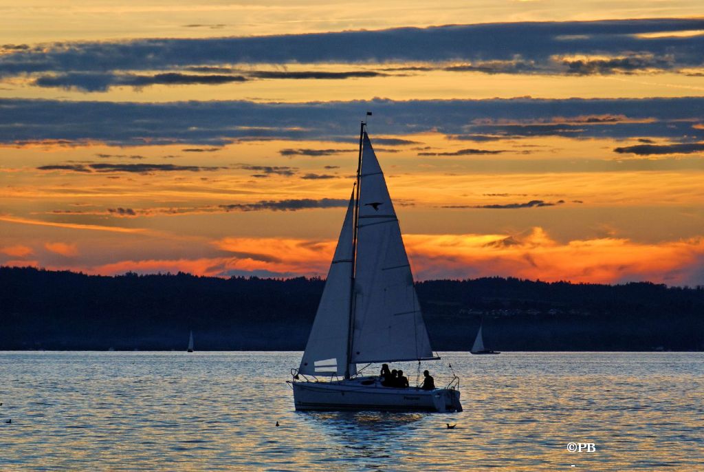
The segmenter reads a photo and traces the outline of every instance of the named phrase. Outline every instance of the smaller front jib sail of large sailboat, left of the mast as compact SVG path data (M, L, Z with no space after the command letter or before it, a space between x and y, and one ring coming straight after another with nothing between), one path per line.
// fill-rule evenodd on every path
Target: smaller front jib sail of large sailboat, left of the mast
M345 373L352 277L352 226L354 198L350 199L337 249L327 273L318 313L308 336L298 372L306 375L338 375ZM350 375L356 373L350 366Z

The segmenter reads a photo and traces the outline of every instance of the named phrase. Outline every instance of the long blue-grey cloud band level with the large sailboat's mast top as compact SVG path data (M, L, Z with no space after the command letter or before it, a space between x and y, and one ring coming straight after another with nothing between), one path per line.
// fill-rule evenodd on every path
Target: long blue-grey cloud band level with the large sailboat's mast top
M37 142L61 142L67 146L82 142L183 143L215 147L238 139L318 139L356 144L358 137L353 117L364 116L368 110L384 117L383 122L372 123L370 129L386 136L437 131L453 139L555 135L704 140L704 97L378 99L299 104L0 99L0 143L16 146ZM605 122L608 118L604 117L608 116L621 118ZM290 154L284 154L327 155L337 150L293 149L286 151ZM467 154L472 152L467 151Z

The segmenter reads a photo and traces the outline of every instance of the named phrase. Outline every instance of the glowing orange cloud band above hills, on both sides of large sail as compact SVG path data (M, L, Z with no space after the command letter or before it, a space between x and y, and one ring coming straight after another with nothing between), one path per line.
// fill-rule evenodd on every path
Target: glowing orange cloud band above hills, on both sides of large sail
M417 280L518 277L546 281L617 283L649 280L668 285L704 283L704 237L643 244L603 237L553 240L541 228L524 237L508 235L406 235ZM325 276L334 240L228 237L213 245L232 256L202 259L118 261L80 270L96 274L184 271ZM73 267L74 270L78 269Z

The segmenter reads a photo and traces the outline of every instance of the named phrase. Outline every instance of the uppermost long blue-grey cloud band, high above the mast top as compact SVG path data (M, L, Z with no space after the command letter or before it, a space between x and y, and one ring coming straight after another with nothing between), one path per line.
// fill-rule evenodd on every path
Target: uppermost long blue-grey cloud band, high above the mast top
M551 23L491 23L441 27L403 27L379 31L328 32L268 37L135 39L127 42L76 42L6 49L1 75L25 73L105 73L106 71L219 68L249 63L460 63L448 70L486 73L612 73L702 66L704 36L643 36L654 32L704 30L704 20L662 18ZM567 39L568 38L568 39ZM576 58L576 55L587 58ZM591 56L591 58L589 57ZM406 68L408 73L427 67ZM386 67L388 70L389 67ZM397 68L398 70L398 68ZM381 73L261 72L268 78L373 77ZM320 75L322 74L322 76ZM353 74L353 75L350 75ZM73 77L77 79L78 77ZM85 79L86 77L84 77ZM49 80L49 82L46 82ZM38 85L63 86L67 77ZM124 76L152 83L227 82L231 75L199 78L180 73ZM155 82L156 81L156 82ZM185 81L185 82L184 82ZM220 82L220 83L222 83ZM65 83L65 82L64 82ZM127 83L125 85L134 85ZM104 82L93 87L106 87ZM97 88L95 88L97 89Z

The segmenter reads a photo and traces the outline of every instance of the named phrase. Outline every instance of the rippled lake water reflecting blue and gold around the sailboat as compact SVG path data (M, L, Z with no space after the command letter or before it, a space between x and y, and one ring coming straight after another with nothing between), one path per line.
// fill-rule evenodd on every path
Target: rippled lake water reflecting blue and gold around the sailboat
M442 355L460 414L296 413L300 353L0 353L0 469L704 470L704 354Z

